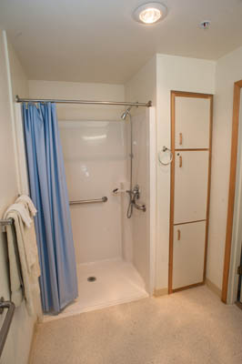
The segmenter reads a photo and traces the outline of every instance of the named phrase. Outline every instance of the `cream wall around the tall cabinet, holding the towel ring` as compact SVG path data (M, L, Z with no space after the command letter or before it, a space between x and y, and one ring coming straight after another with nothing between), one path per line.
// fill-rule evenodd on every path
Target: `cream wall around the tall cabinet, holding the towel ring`
M170 147L170 91L214 94L216 63L180 56L156 55L126 84L126 100L156 106L156 152ZM170 167L156 158L156 289L167 288Z

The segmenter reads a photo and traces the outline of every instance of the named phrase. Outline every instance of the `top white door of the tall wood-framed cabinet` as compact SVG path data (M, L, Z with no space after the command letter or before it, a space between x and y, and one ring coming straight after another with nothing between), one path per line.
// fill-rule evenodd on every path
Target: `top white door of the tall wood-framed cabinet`
M209 147L210 99L175 98L175 148Z

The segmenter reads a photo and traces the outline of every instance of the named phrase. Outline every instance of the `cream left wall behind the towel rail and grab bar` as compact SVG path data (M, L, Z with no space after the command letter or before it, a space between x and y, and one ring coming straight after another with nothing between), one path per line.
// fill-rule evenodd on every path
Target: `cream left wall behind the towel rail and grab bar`
M13 48L10 46L13 90L27 96L25 74L17 61ZM0 31L0 217L5 208L11 204L17 193L17 178L15 167L15 147L12 128L11 104L8 92L7 63L4 45L4 35ZM7 254L5 234L0 231L0 295L9 299L9 281L7 277ZM4 317L0 317L0 326ZM26 364L30 343L32 340L35 318L30 318L25 304L15 309L15 316L5 343L1 364Z

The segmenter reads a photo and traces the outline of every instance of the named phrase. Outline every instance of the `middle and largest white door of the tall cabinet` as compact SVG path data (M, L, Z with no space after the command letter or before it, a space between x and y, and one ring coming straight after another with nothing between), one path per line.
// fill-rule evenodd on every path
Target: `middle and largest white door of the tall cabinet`
M174 224L207 218L207 150L175 153Z

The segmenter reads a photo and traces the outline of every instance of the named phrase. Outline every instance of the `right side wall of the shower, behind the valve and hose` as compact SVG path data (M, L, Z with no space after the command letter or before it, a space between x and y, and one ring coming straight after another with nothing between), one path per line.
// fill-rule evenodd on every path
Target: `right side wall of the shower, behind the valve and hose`
M156 114L155 107L133 109L133 187L140 188L138 205L146 205L146 212L134 207L133 216L125 219L125 230L131 230L132 261L143 278L146 290L154 292L156 249ZM130 127L127 127L127 150L130 150ZM127 163L130 176L130 159Z

